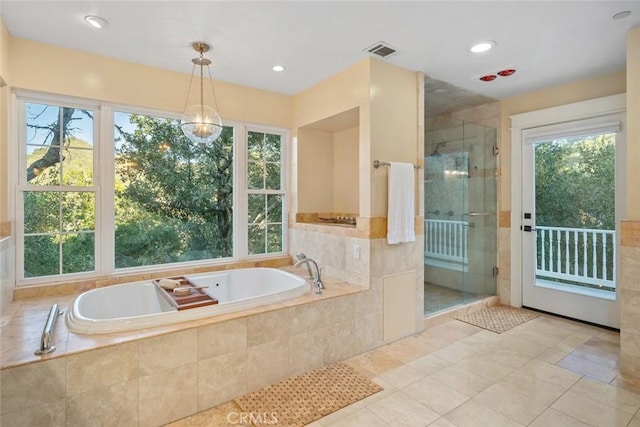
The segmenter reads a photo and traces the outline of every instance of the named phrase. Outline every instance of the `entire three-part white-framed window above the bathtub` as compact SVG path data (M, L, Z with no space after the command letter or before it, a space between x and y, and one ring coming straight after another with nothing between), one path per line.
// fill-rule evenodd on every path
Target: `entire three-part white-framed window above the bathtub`
M54 99L18 103L19 283L285 252L284 131Z

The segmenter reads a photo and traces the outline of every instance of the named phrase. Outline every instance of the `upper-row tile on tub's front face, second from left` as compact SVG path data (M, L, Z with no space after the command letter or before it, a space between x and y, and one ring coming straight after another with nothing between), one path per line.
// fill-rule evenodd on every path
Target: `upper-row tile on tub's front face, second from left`
M67 359L67 396L138 377L138 343L74 354Z

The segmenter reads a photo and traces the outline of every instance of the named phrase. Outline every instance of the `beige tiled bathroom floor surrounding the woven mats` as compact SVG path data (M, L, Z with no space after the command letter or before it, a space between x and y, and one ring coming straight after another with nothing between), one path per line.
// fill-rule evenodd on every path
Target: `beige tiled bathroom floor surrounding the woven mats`
M540 316L501 335L456 320L346 362L384 390L312 424L640 427L616 332ZM226 426L233 402L171 424Z

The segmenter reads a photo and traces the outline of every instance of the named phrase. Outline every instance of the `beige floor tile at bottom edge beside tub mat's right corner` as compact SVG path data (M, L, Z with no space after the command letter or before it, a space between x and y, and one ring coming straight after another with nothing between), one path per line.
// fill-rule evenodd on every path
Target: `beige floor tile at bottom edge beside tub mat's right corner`
M436 412L398 391L367 406L388 425L425 426L440 418Z

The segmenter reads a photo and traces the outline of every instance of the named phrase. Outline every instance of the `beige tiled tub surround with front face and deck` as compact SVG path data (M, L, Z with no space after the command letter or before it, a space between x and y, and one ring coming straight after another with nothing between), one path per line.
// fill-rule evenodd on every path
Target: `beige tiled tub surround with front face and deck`
M0 424L162 425L380 346L380 288L325 284L319 296L146 330L79 335L58 322L44 357L33 351L48 309L73 297L16 301L1 324Z

